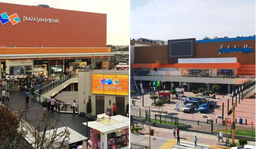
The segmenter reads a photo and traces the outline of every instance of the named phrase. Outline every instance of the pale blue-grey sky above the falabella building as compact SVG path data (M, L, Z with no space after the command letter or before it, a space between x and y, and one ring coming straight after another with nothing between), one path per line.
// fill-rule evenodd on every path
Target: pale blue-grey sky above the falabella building
M255 35L255 0L131 0L131 38Z

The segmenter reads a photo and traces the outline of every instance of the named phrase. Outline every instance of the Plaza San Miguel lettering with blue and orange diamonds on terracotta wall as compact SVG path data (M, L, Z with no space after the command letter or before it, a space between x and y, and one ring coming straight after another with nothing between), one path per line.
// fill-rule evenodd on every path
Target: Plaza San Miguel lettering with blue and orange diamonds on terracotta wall
M34 17L34 16L23 16L23 22L25 21L32 21L36 23L44 22L45 24L48 23L60 23L58 19L53 18L40 18L40 17ZM6 12L0 15L0 22L2 25L11 22L12 25L18 24L20 22L20 18L18 17L18 14L12 14L8 16Z

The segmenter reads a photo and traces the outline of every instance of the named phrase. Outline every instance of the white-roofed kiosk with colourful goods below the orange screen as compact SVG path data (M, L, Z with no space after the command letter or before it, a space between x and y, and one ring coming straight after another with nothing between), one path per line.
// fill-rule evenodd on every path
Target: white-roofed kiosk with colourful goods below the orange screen
M88 149L129 149L129 118L108 115L99 114L96 121L88 122Z

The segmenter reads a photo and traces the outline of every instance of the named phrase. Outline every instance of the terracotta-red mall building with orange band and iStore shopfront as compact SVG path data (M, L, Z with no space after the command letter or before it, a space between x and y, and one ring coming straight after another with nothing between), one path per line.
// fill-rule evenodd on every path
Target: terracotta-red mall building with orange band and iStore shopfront
M0 78L33 68L48 76L108 68L115 54L106 47L106 14L7 3L0 10Z

